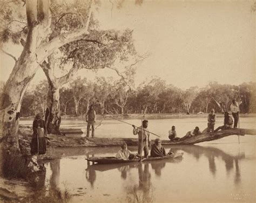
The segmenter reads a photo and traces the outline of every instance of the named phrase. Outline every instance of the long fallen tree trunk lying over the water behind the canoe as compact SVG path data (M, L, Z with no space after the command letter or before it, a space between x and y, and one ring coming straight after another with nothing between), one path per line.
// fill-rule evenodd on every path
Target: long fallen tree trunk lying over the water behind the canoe
M196 144L200 142L208 142L230 135L256 135L256 129L228 129L220 130L213 134L201 134L198 136L190 137L184 141L171 142L169 140L162 140L163 145L178 145L178 144ZM48 135L49 144L53 147L79 147L79 146L120 146L123 142L126 142L129 146L138 145L138 138L100 138L100 137L68 137L60 135ZM151 144L154 139L151 136Z

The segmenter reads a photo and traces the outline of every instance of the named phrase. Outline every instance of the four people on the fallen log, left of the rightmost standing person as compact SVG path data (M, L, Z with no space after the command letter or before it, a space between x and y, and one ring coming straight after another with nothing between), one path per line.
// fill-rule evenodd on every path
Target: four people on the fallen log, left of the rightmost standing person
M211 113L208 114L207 128L204 131L211 134L213 132L217 132L218 130L230 129L233 126L233 119L227 111L224 113L224 125L221 125L220 127L218 127L217 129L214 130L215 119L216 119L216 115L214 113L214 109L212 109ZM199 130L199 127L196 127L193 130L188 131L184 137L179 138L179 137L177 137L176 128L173 125L172 129L169 130L169 139L172 142L183 141L184 139L187 139L188 137L197 136L200 134L202 134L202 132Z

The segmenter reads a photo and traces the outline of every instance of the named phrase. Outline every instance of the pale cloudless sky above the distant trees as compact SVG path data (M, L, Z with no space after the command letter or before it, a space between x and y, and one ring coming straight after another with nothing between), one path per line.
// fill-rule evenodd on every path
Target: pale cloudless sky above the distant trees
M239 85L255 80L255 16L252 1L125 1L122 9L102 1L97 13L100 29L133 30L141 54L136 86L159 76L182 89L204 87L210 81ZM13 49L13 48L12 48ZM17 49L17 48L15 48ZM16 51L16 50L15 50ZM17 51L16 51L17 52ZM6 80L12 59L1 53L1 80ZM9 65L8 65L9 64ZM79 75L94 78L95 73ZM99 76L116 76L109 69ZM40 70L33 83L44 78Z

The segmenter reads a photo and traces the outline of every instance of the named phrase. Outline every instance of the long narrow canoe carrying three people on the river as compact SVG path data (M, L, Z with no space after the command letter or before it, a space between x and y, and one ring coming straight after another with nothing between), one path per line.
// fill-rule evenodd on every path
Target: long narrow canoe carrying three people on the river
M162 160L162 159L171 159L171 158L179 158L182 157L183 153L174 153L173 155L167 155L164 157L149 157L149 158L143 158L142 162L149 162L151 160ZM129 160L123 160L123 159L117 159L116 157L90 157L86 158L86 160L89 160L90 162L96 162L98 164L118 164L118 163L131 163L131 162L139 162L139 158L136 159L129 159Z

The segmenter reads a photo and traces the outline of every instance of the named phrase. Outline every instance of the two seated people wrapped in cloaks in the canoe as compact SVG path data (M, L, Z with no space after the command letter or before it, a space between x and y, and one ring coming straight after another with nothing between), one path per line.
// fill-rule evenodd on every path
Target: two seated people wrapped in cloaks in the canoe
M151 146L150 157L163 157L163 156L172 155L172 154L173 152L171 152L171 149L168 153L165 152L164 146L161 145L161 141L159 138L154 140L154 144ZM121 149L116 154L116 158L129 160L134 158L140 158L140 156L128 150L127 144L123 143L121 145Z

